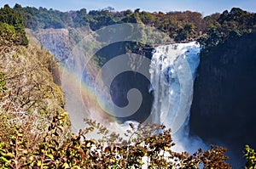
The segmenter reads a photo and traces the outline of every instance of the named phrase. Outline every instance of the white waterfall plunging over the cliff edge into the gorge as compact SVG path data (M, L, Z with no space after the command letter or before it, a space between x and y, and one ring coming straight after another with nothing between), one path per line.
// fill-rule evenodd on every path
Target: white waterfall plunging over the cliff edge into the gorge
M173 150L195 152L205 148L200 138L189 137L189 110L193 99L195 71L200 63L200 44L177 43L155 48L150 65L154 90L153 123L172 129ZM154 87L154 88L153 88Z

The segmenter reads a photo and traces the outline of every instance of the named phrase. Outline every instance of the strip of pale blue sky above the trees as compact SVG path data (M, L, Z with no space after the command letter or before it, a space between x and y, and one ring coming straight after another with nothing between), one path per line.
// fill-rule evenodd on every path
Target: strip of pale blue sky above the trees
M21 6L54 8L61 11L78 10L80 8L101 9L111 6L115 10L136 9L149 12L169 12L192 10L204 15L215 12L222 13L225 9L239 7L249 12L256 12L255 0L0 0L0 6L8 3L13 7L15 3Z

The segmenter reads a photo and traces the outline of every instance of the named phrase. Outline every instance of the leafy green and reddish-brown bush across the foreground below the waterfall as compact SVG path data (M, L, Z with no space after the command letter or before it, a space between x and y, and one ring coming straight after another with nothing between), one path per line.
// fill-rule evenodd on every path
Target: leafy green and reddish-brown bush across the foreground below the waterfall
M157 125L134 126L125 132L108 132L96 121L85 120L87 127L78 135L63 138L61 132L67 113L57 113L48 132L40 133L43 141L32 145L24 128L15 128L7 140L1 138L1 168L230 168L225 161L226 149L213 146L199 149L194 155L173 152L170 129ZM87 138L89 133L101 138Z

